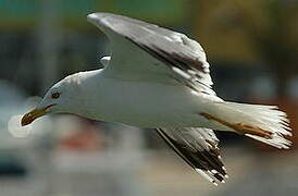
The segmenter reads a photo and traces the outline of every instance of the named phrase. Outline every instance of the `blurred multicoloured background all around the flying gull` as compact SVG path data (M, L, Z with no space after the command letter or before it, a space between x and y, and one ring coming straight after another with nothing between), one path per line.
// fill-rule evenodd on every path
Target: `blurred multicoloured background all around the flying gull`
M102 66L109 41L86 22L97 11L198 40L219 96L278 105L291 121L294 146L276 150L218 133L229 179L214 187L152 130L73 115L21 128L22 114L53 83ZM297 0L0 0L0 62L1 195L298 195Z

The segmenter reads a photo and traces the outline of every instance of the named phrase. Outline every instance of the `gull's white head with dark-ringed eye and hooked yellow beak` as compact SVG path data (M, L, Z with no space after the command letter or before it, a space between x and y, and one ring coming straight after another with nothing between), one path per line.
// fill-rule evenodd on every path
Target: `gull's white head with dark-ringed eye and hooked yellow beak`
M37 107L23 115L22 126L48 113L71 113L71 108L76 105L74 101L77 95L77 74L71 75L54 84Z

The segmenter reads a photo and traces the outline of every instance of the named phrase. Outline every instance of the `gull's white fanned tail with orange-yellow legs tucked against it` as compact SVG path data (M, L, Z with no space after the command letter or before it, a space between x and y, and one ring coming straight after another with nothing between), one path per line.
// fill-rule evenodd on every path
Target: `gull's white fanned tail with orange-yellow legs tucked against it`
M220 123L221 127L224 125L226 131L245 134L276 148L287 149L291 145L284 138L291 136L289 120L276 106L220 102L212 113L202 115Z

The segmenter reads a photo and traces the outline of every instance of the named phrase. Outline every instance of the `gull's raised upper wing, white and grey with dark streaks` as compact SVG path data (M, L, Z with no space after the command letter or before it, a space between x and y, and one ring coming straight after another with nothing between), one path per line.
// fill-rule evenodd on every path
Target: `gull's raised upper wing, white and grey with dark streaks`
M88 21L112 44L107 75L183 84L215 95L202 47L184 34L111 13L92 13Z

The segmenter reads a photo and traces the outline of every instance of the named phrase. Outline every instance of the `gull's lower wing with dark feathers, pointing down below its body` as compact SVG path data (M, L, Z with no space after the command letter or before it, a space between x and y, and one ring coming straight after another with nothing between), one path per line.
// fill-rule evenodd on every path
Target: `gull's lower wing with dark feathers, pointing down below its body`
M158 134L191 168L208 181L224 183L227 177L221 160L219 139L210 128L158 128Z

